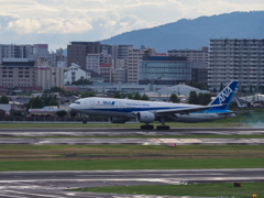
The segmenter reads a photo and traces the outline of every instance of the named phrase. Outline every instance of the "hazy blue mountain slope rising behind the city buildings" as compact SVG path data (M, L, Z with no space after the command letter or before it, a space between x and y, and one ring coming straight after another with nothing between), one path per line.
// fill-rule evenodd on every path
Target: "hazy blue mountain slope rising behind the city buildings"
M264 38L264 11L232 12L197 19L183 19L152 29L122 33L100 41L101 44L131 44L134 48L200 50L210 38Z

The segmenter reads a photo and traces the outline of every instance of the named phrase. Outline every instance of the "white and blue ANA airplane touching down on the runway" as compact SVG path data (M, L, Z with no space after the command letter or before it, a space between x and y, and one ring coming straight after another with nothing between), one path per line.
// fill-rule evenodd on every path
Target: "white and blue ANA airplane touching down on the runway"
M229 111L228 107L238 84L231 81L208 106L91 97L78 99L69 108L89 116L109 117L111 123L136 119L145 123L141 125L142 130L153 130L150 123L160 121L157 130L169 130L165 122L204 122L235 117L235 112Z

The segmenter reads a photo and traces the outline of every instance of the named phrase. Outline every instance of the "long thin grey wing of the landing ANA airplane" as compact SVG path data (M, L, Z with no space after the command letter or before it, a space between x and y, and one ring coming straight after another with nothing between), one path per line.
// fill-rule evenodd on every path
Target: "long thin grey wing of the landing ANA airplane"
M224 106L224 105L198 106L198 107L189 107L189 108L182 108L182 109L164 109L164 110L157 110L156 113L158 113L158 114L166 114L166 113L169 113L169 114L170 113L188 114L190 112L208 110L210 108L221 107L221 106Z

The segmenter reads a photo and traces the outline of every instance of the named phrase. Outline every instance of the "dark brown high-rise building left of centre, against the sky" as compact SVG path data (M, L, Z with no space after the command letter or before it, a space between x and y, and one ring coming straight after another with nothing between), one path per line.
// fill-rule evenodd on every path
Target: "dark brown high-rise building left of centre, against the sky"
M88 54L100 54L99 42L70 42L67 46L67 67L72 63L86 67L86 57Z

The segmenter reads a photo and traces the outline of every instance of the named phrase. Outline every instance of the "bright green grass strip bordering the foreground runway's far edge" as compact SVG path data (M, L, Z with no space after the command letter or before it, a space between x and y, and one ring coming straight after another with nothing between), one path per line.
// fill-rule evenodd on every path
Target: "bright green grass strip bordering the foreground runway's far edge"
M264 158L1 161L0 172L264 168Z

